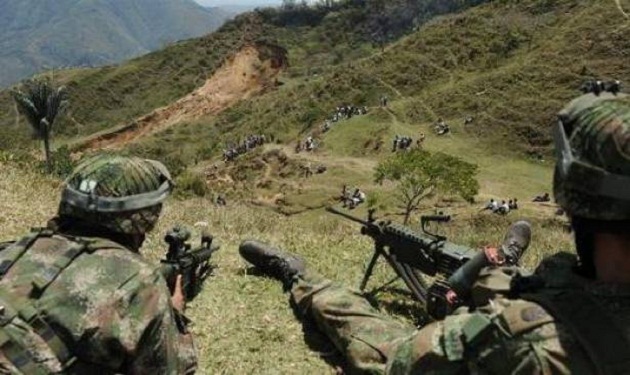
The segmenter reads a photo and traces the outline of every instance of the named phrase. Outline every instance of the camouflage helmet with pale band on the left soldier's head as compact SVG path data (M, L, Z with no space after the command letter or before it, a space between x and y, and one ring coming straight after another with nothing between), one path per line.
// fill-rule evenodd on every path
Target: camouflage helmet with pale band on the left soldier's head
M144 234L155 226L172 187L160 162L98 155L81 162L66 180L59 215L116 233Z

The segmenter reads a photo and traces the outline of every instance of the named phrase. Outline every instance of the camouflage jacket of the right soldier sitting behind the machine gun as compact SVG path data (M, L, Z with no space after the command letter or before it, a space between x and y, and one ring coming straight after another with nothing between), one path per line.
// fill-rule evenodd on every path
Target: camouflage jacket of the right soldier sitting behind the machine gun
M574 273L574 265L575 257L567 253L544 260L532 277L542 282L526 286L518 298L507 297L515 269L485 270L473 294L489 302L474 312L457 311L402 340L388 360L387 373L630 372L630 285L584 279ZM571 296L585 298L567 300ZM539 302L562 298L572 309L565 314L569 319ZM588 304L596 305L595 310ZM584 328L579 332L573 323L577 320Z

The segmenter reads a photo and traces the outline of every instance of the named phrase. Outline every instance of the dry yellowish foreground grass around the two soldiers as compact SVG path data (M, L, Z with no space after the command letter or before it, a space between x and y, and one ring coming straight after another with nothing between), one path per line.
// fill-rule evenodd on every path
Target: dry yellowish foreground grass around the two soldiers
M31 226L43 225L56 209L59 182L42 178L24 168L0 164L0 241L15 238ZM514 217L460 216L443 230L454 242L479 246L496 243ZM230 204L215 208L207 200L171 199L157 230L148 238L144 254L157 262L165 248L161 236L176 223L209 224L222 244L214 262L215 275L190 304L188 313L199 350L200 373L226 374L325 374L334 373L326 363L332 348L304 334L278 282L247 274L238 256L238 244L258 238L278 244L307 258L322 274L357 286L369 260L370 241L358 227L341 222L323 211L284 217L260 207ZM198 234L198 233L197 233ZM569 235L551 219L534 221L534 240L526 257L528 266L550 252L570 245ZM383 264L371 285L391 277ZM393 319L414 321L416 308L400 294L381 293L380 306ZM308 340L307 340L308 338ZM309 346L311 345L312 348Z

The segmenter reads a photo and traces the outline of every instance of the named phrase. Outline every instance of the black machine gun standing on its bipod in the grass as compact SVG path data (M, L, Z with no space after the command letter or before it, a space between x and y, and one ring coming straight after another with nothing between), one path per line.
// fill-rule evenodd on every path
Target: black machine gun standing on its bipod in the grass
M450 216L423 216L421 218L423 233L416 233L391 221L376 221L374 210L368 210L367 220L361 220L332 207L327 207L326 211L361 224L361 234L370 236L374 241L374 255L361 281L361 290L365 289L372 276L376 261L383 256L398 277L405 282L413 296L426 306L431 316L441 319L456 307L447 301L447 292L451 290L447 278L472 259L478 251L448 242L446 237L427 231L428 223L448 222ZM478 270L476 271L478 273ZM427 286L422 275L436 278L431 286Z

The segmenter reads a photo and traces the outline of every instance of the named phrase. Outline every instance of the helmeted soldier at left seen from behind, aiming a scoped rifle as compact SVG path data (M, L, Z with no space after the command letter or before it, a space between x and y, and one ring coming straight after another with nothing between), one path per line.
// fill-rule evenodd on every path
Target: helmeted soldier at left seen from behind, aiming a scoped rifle
M181 281L138 253L172 186L134 157L74 170L58 216L0 251L0 374L194 372Z

